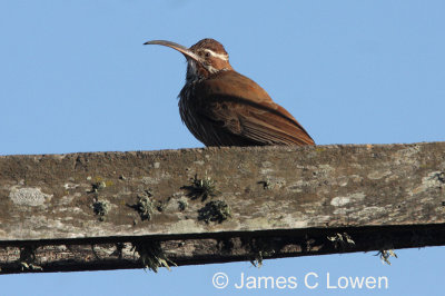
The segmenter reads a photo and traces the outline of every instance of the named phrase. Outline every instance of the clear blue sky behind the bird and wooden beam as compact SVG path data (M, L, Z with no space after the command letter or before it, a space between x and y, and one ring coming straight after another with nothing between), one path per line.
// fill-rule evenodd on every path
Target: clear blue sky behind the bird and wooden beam
M0 1L0 155L202 147L181 124L185 46L211 37L319 145L443 141L445 2ZM216 272L387 276L387 290L237 290L439 295L443 248L161 270L1 276L1 295L219 295ZM23 285L23 283L27 283Z

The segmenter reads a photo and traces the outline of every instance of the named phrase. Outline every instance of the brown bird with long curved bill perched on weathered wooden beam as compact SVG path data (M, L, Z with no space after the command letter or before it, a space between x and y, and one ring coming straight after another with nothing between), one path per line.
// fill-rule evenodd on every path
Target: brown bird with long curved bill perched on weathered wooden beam
M236 72L222 45L202 39L186 48L165 40L187 59L179 112L206 146L315 145L300 124L255 81Z

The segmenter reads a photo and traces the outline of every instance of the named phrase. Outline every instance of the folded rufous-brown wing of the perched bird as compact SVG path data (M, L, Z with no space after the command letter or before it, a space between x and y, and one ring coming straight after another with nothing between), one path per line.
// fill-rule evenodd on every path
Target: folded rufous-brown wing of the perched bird
M222 71L201 81L196 91L202 106L198 115L221 132L258 145L314 145L298 121L245 76Z

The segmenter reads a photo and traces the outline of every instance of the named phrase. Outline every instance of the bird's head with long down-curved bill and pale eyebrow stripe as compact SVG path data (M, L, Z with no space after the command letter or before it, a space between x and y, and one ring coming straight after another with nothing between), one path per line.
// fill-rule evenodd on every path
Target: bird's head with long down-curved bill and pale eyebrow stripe
M190 48L166 40L152 40L144 45L159 45L181 52L187 59L187 82L208 78L212 73L231 70L229 55L215 39L206 38Z

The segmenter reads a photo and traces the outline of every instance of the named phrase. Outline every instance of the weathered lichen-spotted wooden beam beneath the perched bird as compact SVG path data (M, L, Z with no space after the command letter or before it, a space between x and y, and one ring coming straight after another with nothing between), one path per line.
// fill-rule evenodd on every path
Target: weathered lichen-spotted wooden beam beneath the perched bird
M215 196L194 199L195 176ZM178 264L251 258L253 237L275 237L277 257L444 245L444 188L445 142L1 156L0 264L17 272L20 247L23 262L33 246L43 270L132 268L131 246L113 244L145 238ZM140 197L154 203L150 219ZM231 217L202 220L211 200ZM354 247L328 244L343 231Z

